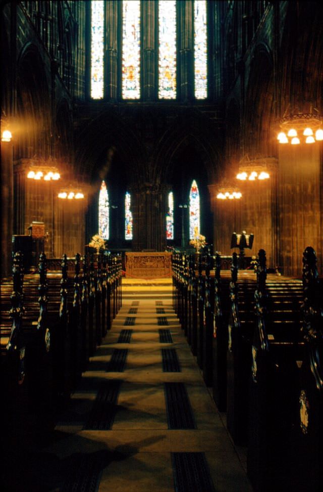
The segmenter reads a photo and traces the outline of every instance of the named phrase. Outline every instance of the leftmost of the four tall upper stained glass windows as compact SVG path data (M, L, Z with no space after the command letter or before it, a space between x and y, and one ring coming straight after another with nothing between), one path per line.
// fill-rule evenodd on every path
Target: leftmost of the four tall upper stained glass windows
M91 98L103 98L104 2L91 2Z

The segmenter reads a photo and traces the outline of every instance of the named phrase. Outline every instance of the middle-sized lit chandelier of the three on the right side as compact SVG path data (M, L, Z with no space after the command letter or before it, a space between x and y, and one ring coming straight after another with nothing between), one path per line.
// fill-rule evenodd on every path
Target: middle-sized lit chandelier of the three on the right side
M239 162L239 172L236 175L240 181L264 181L268 180L275 168L274 157L256 156L250 158L246 154Z

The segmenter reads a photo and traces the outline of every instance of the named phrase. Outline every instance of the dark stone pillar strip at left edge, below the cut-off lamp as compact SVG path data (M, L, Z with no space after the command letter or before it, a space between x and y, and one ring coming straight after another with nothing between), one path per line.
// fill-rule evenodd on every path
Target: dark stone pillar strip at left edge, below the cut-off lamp
M13 145L1 142L1 277L11 275L13 235Z

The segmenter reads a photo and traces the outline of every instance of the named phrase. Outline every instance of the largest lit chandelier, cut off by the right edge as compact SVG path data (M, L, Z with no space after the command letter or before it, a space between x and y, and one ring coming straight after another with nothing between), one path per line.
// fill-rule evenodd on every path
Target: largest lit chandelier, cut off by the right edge
M314 144L323 140L322 116L314 113L298 113L284 117L277 140L280 144Z

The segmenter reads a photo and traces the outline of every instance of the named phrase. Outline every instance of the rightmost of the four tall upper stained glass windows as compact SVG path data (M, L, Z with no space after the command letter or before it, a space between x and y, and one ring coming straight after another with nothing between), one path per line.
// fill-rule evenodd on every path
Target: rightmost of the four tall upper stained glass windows
M206 1L194 0L194 93L207 97Z

